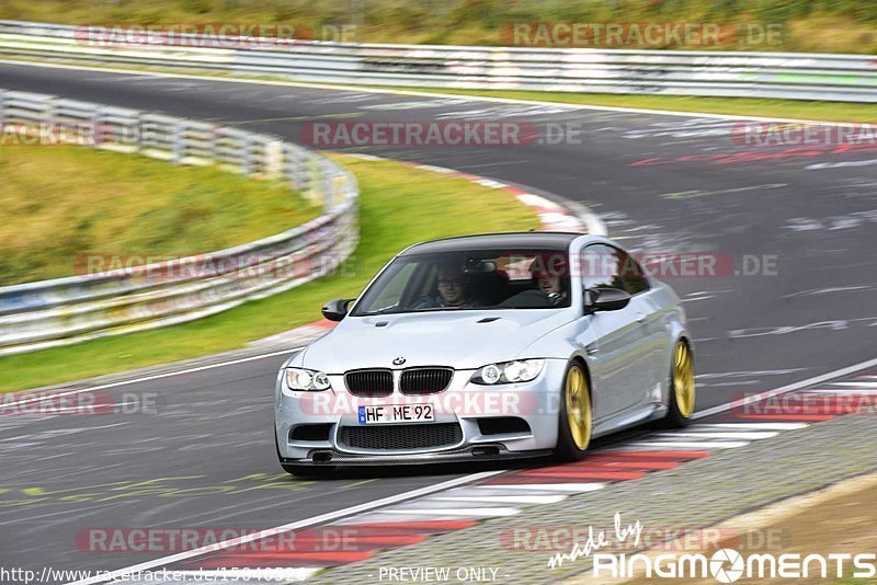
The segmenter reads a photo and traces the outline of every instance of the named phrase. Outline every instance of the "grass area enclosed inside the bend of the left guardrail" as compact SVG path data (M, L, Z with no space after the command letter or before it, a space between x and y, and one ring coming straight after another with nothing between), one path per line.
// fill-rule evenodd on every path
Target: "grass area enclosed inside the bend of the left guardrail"
M71 276L89 254L221 250L321 213L281 182L80 147L0 147L0 286Z

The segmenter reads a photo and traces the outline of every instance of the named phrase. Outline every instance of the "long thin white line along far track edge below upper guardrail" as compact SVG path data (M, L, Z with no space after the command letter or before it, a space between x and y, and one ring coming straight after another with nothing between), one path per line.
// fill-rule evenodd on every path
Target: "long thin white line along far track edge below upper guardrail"
M425 92L417 90L391 90L391 89L377 89L377 88L361 88L357 85L339 85L331 83L306 83L296 81L267 81L263 79L234 79L225 77L212 76L194 76L187 73L161 73L157 71L138 71L134 69L117 69L114 67L88 67L84 65L58 65L58 64L44 64L34 61L21 61L16 59L0 59L0 64L20 65L24 67L42 67L46 69L70 69L73 71L100 71L102 73L122 73L126 76L139 77L153 77L159 79L194 79L198 81L219 81L223 83L249 83L253 85L280 85L289 88L314 88L320 90L335 90L346 91L354 93L387 93L391 95L413 95L417 97L432 97L432 99L451 99L459 100L460 102L492 102L498 104L517 104L517 105L542 105L549 107L561 107L567 110L590 110L595 112L624 112L629 114L657 114L660 116L677 116L677 117L692 117L692 118L711 118L711 119L739 119L752 122L789 122L795 124L809 124L809 125L839 125L839 124L855 124L853 122L827 122L815 119L798 119L798 118L778 118L768 116L736 116L732 114L710 114L707 112L677 112L674 110L649 110L647 107L620 107L610 105L588 105L588 104L568 104L563 102L543 102L538 100L515 100L513 97L489 97L478 95L459 95L454 93L438 93Z

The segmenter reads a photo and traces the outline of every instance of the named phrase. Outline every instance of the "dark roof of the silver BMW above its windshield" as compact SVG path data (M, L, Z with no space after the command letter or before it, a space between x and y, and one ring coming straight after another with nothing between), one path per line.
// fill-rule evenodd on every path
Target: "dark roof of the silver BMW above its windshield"
M471 250L569 250L569 244L582 233L560 231L522 231L512 233L483 233L460 236L414 244L400 256L442 252L468 252Z

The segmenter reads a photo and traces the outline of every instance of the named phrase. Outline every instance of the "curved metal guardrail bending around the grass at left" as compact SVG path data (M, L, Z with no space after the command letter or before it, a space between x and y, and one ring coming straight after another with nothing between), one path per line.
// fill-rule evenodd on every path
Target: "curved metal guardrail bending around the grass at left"
M219 252L0 287L0 355L214 314L324 275L356 246L356 180L334 162L280 137L5 90L0 90L0 124L7 137L10 128L22 136L54 129L50 136L64 142L87 141L179 164L217 164L284 180L324 208L324 215L303 226ZM87 140L82 128L89 130Z

